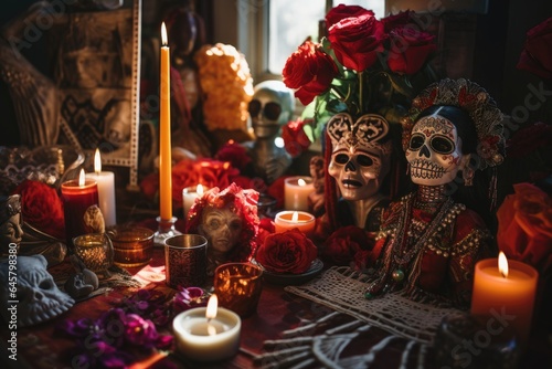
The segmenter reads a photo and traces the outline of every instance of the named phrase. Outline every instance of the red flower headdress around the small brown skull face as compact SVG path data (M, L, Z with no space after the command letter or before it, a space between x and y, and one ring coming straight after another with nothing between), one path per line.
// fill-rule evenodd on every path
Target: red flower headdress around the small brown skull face
M210 189L190 209L185 224L187 233L197 233L202 221L203 211L208 207L222 209L230 205L230 209L243 220L242 233L237 240L237 245L229 255L231 261L247 261L256 249L255 238L258 232L257 217L258 192L252 189L242 189L232 182L224 190L217 187Z

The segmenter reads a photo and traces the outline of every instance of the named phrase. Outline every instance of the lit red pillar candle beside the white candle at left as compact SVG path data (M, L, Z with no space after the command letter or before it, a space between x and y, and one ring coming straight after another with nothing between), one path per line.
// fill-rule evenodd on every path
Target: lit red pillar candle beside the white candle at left
M67 245L73 247L73 238L87 233L84 214L89 207L98 205L96 181L87 180L84 169L81 169L77 180L68 180L62 183L62 202Z

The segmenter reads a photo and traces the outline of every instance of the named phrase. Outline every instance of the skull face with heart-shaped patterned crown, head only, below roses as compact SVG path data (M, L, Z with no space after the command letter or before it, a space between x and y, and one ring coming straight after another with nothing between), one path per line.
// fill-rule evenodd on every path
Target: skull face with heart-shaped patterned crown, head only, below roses
M327 127L332 143L328 173L336 179L346 200L374 196L390 170L391 141L381 144L389 133L388 122L374 114L353 123L346 113L335 115Z

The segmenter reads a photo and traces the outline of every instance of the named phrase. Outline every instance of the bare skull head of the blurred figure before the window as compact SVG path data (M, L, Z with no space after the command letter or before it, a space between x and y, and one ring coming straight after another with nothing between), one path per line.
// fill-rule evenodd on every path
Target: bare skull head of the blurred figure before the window
M248 112L257 138L276 136L294 114L294 92L282 81L265 81L255 86Z

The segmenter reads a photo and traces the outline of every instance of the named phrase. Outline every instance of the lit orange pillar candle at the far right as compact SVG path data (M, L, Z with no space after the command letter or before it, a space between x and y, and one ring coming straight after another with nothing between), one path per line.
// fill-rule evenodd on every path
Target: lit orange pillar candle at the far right
M471 314L493 318L495 330L500 328L501 331L508 326L523 346L531 330L538 278L539 273L533 267L507 261L502 252L498 261L486 259L478 262Z

